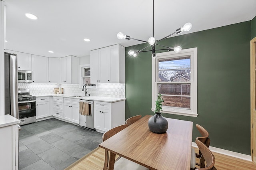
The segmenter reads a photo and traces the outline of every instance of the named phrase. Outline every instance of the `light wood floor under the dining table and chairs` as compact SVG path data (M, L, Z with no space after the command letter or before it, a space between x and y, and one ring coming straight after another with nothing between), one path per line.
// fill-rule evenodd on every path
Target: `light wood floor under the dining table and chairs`
M198 148L195 148L198 152ZM215 167L217 170L256 170L256 166L246 160L233 158L218 153L214 153L215 156ZM74 162L65 170L102 170L105 159L105 151L102 148L96 148L90 154L87 154L83 158ZM196 160L198 162L198 160Z

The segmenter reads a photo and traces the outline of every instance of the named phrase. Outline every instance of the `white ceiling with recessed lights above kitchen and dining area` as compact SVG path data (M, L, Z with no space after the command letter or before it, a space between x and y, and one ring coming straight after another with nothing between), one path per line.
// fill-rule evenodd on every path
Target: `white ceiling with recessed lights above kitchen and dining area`
M81 57L109 45L141 43L119 40L118 32L145 41L152 36L152 0L5 0L5 6L5 49L14 51ZM168 36L186 22L192 33L252 20L255 9L256 0L155 0L154 35Z

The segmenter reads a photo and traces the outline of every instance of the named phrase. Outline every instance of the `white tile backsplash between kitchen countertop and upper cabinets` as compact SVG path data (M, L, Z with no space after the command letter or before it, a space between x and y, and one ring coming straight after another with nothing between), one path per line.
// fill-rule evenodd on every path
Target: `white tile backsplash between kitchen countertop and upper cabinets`
M78 84L34 84L34 83L18 83L19 89L30 89L30 95L48 95L54 94L54 88L63 88L66 95L85 95L85 91ZM96 88L87 88L87 95L102 97L118 97L125 98L125 84L98 84Z

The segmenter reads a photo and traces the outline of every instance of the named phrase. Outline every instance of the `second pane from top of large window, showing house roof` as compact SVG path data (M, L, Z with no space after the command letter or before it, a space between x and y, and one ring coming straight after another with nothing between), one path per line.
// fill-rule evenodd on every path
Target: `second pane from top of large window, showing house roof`
M190 81L190 69L179 69L179 70L159 70L158 81Z

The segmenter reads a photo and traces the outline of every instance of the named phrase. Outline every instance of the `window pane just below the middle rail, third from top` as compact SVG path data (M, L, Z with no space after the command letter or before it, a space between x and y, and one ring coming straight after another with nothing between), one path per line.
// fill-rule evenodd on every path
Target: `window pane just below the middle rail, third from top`
M190 95L190 84L158 84L158 93L162 95Z

